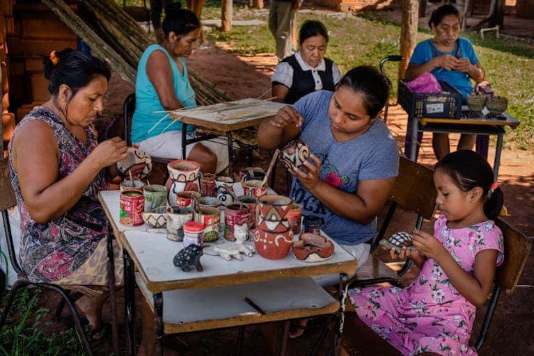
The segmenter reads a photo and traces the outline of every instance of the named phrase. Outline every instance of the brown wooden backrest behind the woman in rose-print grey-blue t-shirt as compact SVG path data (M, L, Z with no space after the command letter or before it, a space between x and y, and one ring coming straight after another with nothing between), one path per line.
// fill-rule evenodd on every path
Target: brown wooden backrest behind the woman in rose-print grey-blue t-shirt
M433 176L434 170L400 156L399 175L391 189L390 199L425 219L432 218L437 196Z

